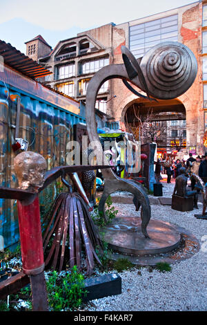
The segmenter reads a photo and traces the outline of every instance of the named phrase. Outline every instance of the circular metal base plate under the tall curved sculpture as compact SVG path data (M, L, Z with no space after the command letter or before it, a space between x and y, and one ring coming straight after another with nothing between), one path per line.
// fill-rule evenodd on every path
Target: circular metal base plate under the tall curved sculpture
M150 220L147 231L150 239L141 232L140 218L115 218L103 228L104 241L114 252L131 256L166 253L177 248L181 241L176 226L164 221Z

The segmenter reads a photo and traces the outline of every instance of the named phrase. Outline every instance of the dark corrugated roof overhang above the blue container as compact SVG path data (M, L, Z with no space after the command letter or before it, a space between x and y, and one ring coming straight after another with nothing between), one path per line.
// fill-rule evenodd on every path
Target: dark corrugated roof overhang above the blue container
M32 79L50 75L52 72L44 68L34 60L30 59L17 48L14 48L10 43L1 41L0 39L0 55L6 65L23 73Z

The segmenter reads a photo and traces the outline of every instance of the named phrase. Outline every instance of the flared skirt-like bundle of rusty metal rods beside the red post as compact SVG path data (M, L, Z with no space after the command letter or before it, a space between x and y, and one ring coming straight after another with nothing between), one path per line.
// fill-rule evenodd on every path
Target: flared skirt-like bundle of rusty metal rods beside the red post
M88 212L88 207L83 198L77 193L64 192L57 196L51 209L51 219L43 236L43 250L49 253L45 264L52 261L52 269L57 268L59 263L59 272L63 268L63 260L66 248L69 249L69 264L72 268L77 266L81 268L81 252L85 251L87 274L92 272L95 266L95 259L101 264L95 249L103 252L99 232L92 221ZM68 242L68 244L67 244Z

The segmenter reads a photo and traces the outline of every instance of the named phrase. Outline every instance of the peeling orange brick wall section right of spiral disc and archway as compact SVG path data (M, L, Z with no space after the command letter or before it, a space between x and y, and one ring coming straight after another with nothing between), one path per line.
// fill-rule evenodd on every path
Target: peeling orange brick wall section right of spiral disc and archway
M186 107L186 130L187 146L197 146L197 153L203 154L204 147L202 138L204 136L204 110L202 95L202 68L201 68L201 3L189 8L182 13L182 25L180 29L181 41L193 51L197 63L198 73L194 84L181 97Z

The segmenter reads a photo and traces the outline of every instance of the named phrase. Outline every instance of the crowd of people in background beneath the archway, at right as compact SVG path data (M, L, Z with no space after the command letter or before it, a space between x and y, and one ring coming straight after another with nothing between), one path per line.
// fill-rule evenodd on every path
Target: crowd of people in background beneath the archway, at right
M168 176L167 183L171 183L171 177L177 178L180 175L181 167L186 168L187 172L193 173L207 181L207 152L204 156L197 156L193 158L193 154L189 154L189 158L185 161L183 160L172 160L172 158L167 158L166 160L157 160L155 162L155 178L157 182L161 179L161 167L166 169L166 174ZM205 183L206 183L205 181ZM195 179L191 179L191 187L195 187Z

